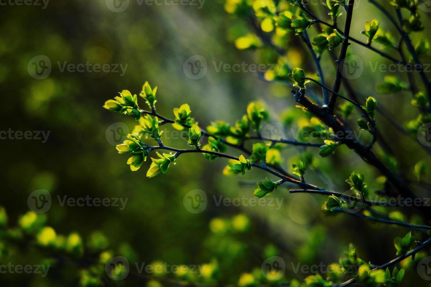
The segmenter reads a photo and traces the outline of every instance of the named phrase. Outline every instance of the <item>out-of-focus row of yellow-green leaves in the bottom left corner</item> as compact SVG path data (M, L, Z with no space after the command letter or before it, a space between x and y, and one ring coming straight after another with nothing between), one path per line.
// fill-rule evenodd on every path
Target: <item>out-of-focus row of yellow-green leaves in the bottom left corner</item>
M28 211L19 217L16 227L8 227L6 210L0 207L0 253L3 258L12 256L12 250L15 250L16 246L31 245L44 255L40 261L41 265L58 268L63 257L78 265L84 260L87 262L86 266L79 266L79 281L83 287L103 286L103 280L106 278L105 265L115 255L121 254L133 260L136 258L130 245L122 243L117 247L112 246L100 231L92 232L87 240L84 240L78 232L62 235L46 223L46 214ZM112 274L119 275L121 272Z

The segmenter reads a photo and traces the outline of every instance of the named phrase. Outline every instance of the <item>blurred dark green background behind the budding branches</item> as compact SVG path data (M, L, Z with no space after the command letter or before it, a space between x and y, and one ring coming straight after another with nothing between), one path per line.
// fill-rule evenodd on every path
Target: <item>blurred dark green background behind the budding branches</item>
M391 29L381 13L370 10L368 3L362 1L359 5L352 27L354 37L361 37L359 31L363 30L363 22L375 17L386 30ZM129 260L131 264L155 261L170 265L210 264L214 272L197 279L204 285L237 285L243 273L254 272L256 278L262 277L259 271L269 256L284 259L284 281L302 280L312 273L295 273L293 266L298 262L301 265L337 262L350 242L357 245L359 256L367 262L384 263L394 258L392 240L405 235L406 230L348 215L325 216L320 211L326 199L322 196L288 194L287 188L280 187L271 195L281 201L280 208L276 201L273 207L217 206L213 196L253 198L253 182L267 176L256 170L244 177L223 176L224 159L208 163L199 154L186 154L178 158L167 174L153 179L145 177L149 162L137 172L130 171L127 156L117 154L109 134L114 123L125 123L131 131L135 122L102 108L103 102L122 89L139 93L144 81L149 81L152 86L158 86L159 114L173 118L172 109L188 103L202 127L214 120L233 124L246 112L248 102L256 99L266 102L273 121L282 121L283 112L295 106L290 86L258 80L256 73L216 71L214 62L216 65L243 61L259 64L272 63L276 58L265 49L258 53L236 49L234 40L252 29L246 22L226 13L223 3L206 0L202 9L198 6L199 3L197 6L148 6L131 0L124 12L112 12L104 0L73 0L50 1L46 9L25 5L1 7L1 130L50 131L46 143L1 140L4 169L0 205L6 208L9 225L16 225L19 217L29 211L27 198L31 192L46 189L53 198L46 213L47 225L57 234L69 235L75 231L86 242L91 241L95 231L100 231L109 241L107 249L118 250L128 244L134 250ZM321 8L319 15L325 15L326 10ZM425 27L429 31L429 25ZM301 66L312 72L308 50L298 40L292 41L294 48L287 56L290 67ZM388 63L363 47L352 44L350 49L365 63L377 60ZM38 55L47 56L52 63L49 77L41 80L31 77L28 71L29 61ZM208 73L199 80L190 79L183 71L184 61L194 55L201 55L208 61ZM327 55L324 58L326 81L332 83L334 67ZM120 76L121 73L110 72L61 72L57 65L57 62L87 61L122 64L127 65L127 69ZM370 73L366 64L364 69L364 74L352 83L365 97L375 94L375 84L382 81L384 74ZM316 88L315 93L318 94L319 89ZM379 105L386 105L391 113L397 114L401 123L416 117L417 110L409 105L411 98L407 93L375 97ZM393 104L395 99L397 105ZM143 101L141 105L144 106ZM398 167L412 178L412 167L425 152L414 139L403 137L384 119L378 121L378 127L399 156ZM172 130L168 125L163 127L165 129L167 134ZM178 148L186 146L181 139L166 139L166 143ZM303 148L285 149L282 166L291 171L291 162L302 151ZM309 151L317 155L315 149ZM240 155L234 149L229 152ZM378 173L346 147L340 147L333 157L316 157L316 160L320 163L320 173L328 177L338 191L348 189L344 180L353 170L365 173L370 191L381 188ZM189 167L185 168L185 164ZM307 180L327 186L327 182L312 171ZM239 184L239 181L245 183ZM190 213L184 207L184 196L194 189L207 194L208 206L202 213ZM128 201L124 210L119 207L62 207L57 196L65 195L68 198L120 197ZM406 216L409 220L410 214ZM119 255L117 251L113 253ZM54 257L28 244L11 248L3 253L0 261L2 264L39 264ZM81 271L88 265L56 260L47 277L6 273L0 275L2 285L80 284ZM404 262L403 266L408 264ZM410 265L406 286L426 286L418 279L415 265ZM129 276L126 283L122 282L126 286L143 286L147 282L152 286L157 286L157 282L170 286L158 278L178 279L178 276ZM106 286L114 285L106 279Z

